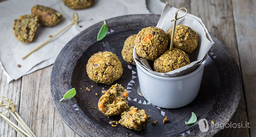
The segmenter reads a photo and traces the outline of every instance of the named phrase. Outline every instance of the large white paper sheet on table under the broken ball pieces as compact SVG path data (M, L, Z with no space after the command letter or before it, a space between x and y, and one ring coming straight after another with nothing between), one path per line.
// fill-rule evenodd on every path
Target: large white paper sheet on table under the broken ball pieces
M18 41L12 31L13 21L20 15L30 14L34 5L45 5L59 11L63 17L54 27L38 25L32 43ZM21 58L72 22L72 13L78 13L78 26L72 25L28 58ZM145 0L95 0L95 4L83 10L73 10L61 0L7 0L0 2L0 65L9 83L13 79L47 67L54 63L61 49L76 34L103 19L127 14L148 14ZM108 22L107 22L108 23ZM79 27L79 26L82 27ZM96 37L96 36L95 36ZM20 65L21 67L17 67Z

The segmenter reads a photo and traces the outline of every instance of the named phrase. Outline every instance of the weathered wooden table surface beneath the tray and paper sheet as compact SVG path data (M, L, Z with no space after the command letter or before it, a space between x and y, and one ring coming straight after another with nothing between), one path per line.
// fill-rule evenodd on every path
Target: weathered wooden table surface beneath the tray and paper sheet
M3 0L0 0L3 1ZM221 40L235 58L243 78L243 94L232 123L249 122L250 128L224 128L219 137L256 137L256 1L255 0L163 0L186 7L202 18L208 31ZM15 66L16 67L16 66ZM52 65L6 82L0 68L0 96L17 102L17 110L37 137L78 137L62 121L50 94ZM0 119L0 137L20 137Z

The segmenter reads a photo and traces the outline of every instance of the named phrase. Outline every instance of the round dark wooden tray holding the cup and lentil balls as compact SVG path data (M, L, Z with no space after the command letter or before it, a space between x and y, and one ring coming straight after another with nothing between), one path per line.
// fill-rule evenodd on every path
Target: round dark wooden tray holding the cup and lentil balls
M210 121L219 124L228 123L234 115L241 98L241 75L234 58L213 35L211 37L215 44L209 51L200 92L193 102L182 108L164 109L150 105L144 97L137 94L139 82L136 67L128 65L122 59L122 45L128 36L136 34L142 28L156 26L159 18L159 15L154 14L111 18L106 21L111 33L103 40L96 41L98 31L103 24L100 22L80 32L61 50L52 69L52 100L63 121L78 135L83 137L213 136L221 128L211 126ZM157 126L148 123L142 131L130 130L121 125L112 127L108 122L119 120L120 115L108 118L97 108L89 108L97 107L102 88L111 87L111 85L95 83L87 76L85 67L87 61L98 51L111 51L117 54L124 70L122 77L113 84L119 83L127 88L130 97L128 105L146 110L147 114L151 115L151 121L158 120ZM94 87L91 88L91 85ZM59 99L72 87L76 88L76 96L60 103ZM89 87L91 92L85 90L86 87ZM199 119L208 121L207 132L199 130L198 121L193 125L185 124L185 121L191 117L191 112L195 112L198 121ZM162 123L164 115L169 119L166 124Z

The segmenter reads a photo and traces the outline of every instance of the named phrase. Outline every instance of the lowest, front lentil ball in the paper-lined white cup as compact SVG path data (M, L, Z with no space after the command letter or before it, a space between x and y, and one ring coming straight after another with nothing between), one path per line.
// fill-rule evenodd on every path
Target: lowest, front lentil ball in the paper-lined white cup
M166 50L154 61L154 71L167 73L190 64L187 54L177 48Z

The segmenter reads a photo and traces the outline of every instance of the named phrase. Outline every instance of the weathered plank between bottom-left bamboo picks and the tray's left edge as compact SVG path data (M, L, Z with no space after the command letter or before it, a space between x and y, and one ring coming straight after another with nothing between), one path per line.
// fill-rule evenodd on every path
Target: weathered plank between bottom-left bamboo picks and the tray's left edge
M54 108L50 93L51 71L52 66L22 77L21 117L38 137L74 137L74 132L63 123Z

